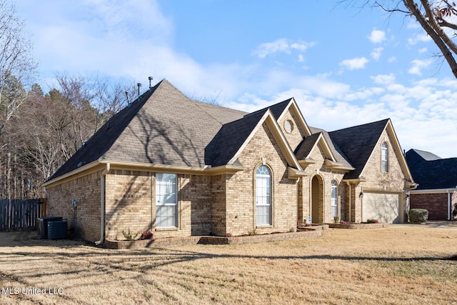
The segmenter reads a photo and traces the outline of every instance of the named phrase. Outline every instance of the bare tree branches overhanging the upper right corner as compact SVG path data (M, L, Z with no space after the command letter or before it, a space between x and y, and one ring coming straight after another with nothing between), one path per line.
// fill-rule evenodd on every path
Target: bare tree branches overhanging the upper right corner
M383 11L411 16L418 21L438 46L453 75L457 78L457 46L453 39L457 31L456 3L448 0L343 0L341 3L359 7L373 6Z

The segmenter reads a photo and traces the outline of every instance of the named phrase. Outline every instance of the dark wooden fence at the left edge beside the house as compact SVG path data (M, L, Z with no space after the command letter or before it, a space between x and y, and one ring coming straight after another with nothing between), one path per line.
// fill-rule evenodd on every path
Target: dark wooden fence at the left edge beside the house
M46 199L0 199L0 231L34 230L46 216Z

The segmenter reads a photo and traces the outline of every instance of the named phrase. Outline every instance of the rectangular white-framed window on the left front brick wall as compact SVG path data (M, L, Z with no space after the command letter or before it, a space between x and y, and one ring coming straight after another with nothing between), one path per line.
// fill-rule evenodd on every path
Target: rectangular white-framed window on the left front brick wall
M156 174L156 228L178 226L176 174Z

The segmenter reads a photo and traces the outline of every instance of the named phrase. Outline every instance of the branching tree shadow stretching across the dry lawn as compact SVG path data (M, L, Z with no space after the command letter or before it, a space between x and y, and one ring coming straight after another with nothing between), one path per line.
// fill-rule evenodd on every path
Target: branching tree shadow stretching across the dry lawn
M41 240L39 240L41 241ZM24 245L27 246L27 245ZM162 266L172 266L191 261L199 261L205 259L268 259L268 260L322 260L323 264L331 264L331 261L378 261L378 262L421 262L421 261L457 261L457 255L443 256L418 256L418 257L397 257L397 256L350 256L350 255L243 255L243 254L212 254L205 251L185 251L169 249L165 247L146 248L146 249L123 249L111 250L95 247L93 244L87 246L82 241L74 241L71 245L59 246L53 242L46 243L46 248L40 249L41 242L36 245L36 249L28 249L21 247L12 247L12 249L4 249L0 247L0 277L6 276L23 286L30 286L31 279L46 279L47 276L64 275L66 279L78 280L81 277L94 276L99 283L103 284L119 284L119 271L128 272L122 274L125 278L141 279L144 284L154 286L154 289L159 289L163 294L169 294L156 283L154 276L152 278L144 277L147 271L154 274L159 271ZM31 246L34 247L34 246ZM79 248L79 249L78 249ZM49 251L46 251L49 249ZM35 251L36 250L36 251ZM1 268L3 264L26 264L38 266L39 261L52 261L56 266L66 264L72 268L61 271L59 267L55 269L49 264L49 267L44 269L29 269L24 268L16 271L5 271ZM328 261L328 262L326 262ZM89 263L89 264L88 264ZM33 281L32 281L33 282ZM84 288L93 284L79 282L72 284L71 288ZM164 291L162 291L164 290ZM71 298L66 297L68 301ZM171 299L173 299L171 297Z

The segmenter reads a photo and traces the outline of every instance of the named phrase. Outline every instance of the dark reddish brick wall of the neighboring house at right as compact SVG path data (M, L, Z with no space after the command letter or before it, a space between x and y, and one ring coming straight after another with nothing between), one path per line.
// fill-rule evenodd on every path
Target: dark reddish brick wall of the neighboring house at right
M428 220L448 219L448 194L411 194L411 209L426 209Z

